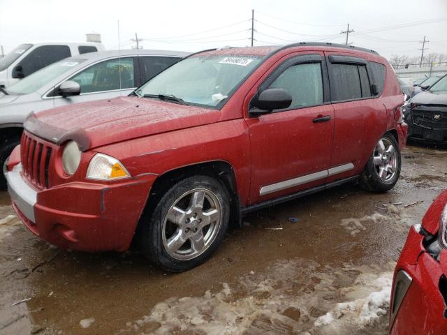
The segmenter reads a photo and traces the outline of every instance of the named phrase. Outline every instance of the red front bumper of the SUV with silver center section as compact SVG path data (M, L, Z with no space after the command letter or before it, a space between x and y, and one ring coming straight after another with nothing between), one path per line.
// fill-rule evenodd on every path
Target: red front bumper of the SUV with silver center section
M4 173L24 225L51 244L90 252L129 248L156 177L148 174L114 184L72 182L36 191L21 171L17 164Z

